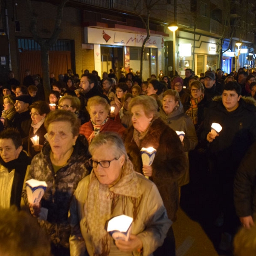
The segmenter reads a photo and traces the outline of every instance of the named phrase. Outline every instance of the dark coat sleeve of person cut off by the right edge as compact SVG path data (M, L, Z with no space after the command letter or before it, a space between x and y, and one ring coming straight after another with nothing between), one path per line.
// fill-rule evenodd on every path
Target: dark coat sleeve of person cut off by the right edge
M234 203L239 217L256 213L256 142L244 156L234 180Z

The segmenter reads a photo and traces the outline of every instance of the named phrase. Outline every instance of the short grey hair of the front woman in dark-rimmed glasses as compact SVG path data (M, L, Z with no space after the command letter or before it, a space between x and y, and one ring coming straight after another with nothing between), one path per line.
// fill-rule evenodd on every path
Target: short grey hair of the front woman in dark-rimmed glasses
M128 155L126 153L125 145L118 133L107 131L95 136L89 145L90 154L93 155L93 152L95 151L95 149L102 145L108 145L108 147L113 146L115 148L113 154L115 155L116 158L119 158L121 155L124 154L125 161L128 160Z

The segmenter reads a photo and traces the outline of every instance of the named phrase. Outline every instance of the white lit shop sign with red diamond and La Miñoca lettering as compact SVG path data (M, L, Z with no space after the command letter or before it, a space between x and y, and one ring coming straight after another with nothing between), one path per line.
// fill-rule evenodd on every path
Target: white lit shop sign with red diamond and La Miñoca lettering
M120 32L108 29L84 28L84 43L141 47L145 34ZM151 36L146 47L163 48L163 37Z

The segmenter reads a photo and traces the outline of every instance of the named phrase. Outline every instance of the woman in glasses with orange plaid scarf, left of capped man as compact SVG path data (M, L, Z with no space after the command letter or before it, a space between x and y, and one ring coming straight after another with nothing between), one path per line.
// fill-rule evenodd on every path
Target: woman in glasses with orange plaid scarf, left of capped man
M209 104L204 98L204 86L200 81L193 81L191 84L191 96L189 101L189 109L186 111L193 124L198 139L201 133L201 126L204 121L204 108Z

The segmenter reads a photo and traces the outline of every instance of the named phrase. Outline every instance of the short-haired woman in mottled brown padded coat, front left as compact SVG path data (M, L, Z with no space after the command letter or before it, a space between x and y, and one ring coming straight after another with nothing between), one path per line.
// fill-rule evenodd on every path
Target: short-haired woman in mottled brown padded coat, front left
M47 189L39 205L28 203L26 189L22 196L35 217L48 210L47 217L38 221L51 238L52 254L69 256L68 210L79 181L89 174L86 168L88 142L79 135L79 120L70 111L50 112L44 126L47 143L33 158L27 180L44 180Z

